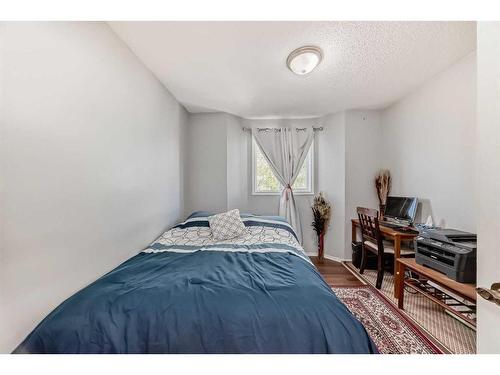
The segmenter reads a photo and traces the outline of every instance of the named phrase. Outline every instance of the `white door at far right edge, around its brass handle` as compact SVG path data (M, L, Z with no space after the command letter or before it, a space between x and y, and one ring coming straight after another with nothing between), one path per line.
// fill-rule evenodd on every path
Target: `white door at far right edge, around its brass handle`
M500 22L478 23L477 192L479 197L478 285L500 282ZM478 300L479 353L500 354L500 308Z

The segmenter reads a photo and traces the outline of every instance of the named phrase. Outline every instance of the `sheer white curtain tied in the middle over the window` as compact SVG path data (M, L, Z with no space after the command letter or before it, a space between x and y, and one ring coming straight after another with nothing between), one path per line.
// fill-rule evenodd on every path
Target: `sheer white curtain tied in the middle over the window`
M292 186L314 139L312 127L252 129L252 135L274 175L283 186L279 214L287 219L302 243L302 227Z

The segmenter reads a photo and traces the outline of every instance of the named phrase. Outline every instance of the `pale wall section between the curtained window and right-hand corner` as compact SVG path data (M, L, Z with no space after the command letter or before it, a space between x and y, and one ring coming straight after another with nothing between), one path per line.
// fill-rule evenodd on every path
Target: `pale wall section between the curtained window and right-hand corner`
M351 219L356 208L378 207L373 178L381 166L380 112L350 110L323 118L318 136L318 191L332 203L325 253L351 259Z

